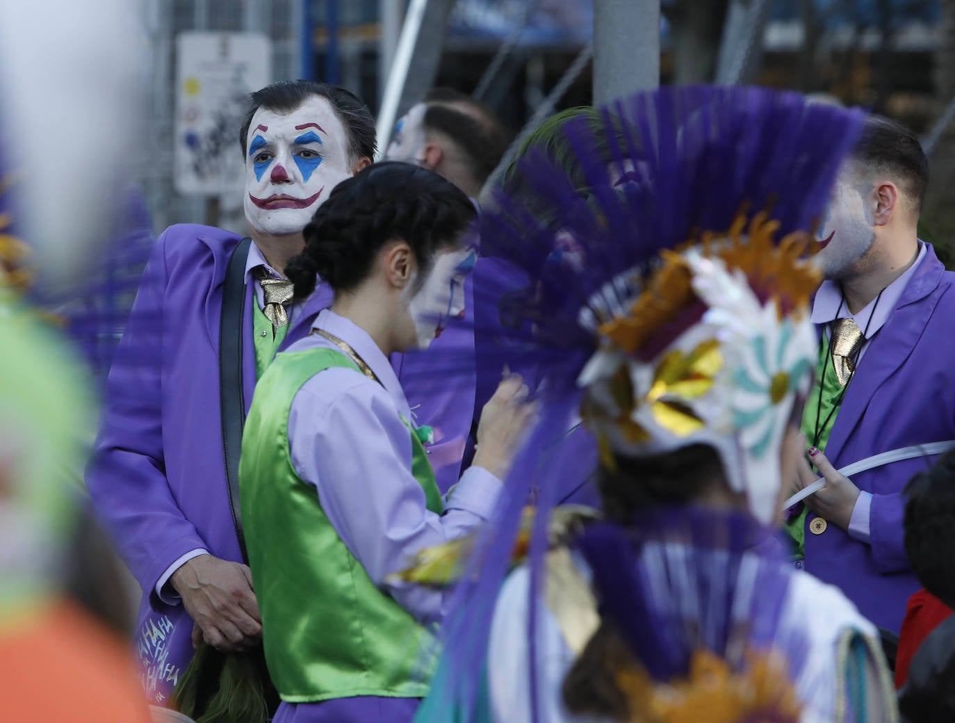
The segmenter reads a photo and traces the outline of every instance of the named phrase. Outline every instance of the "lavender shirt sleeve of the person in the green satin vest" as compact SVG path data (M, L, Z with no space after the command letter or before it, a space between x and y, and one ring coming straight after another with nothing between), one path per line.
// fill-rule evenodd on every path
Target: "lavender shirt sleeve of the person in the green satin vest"
M411 432L392 398L349 369L329 369L292 401L288 440L296 474L318 491L335 532L371 581L422 623L439 621L445 595L393 583L424 547L454 540L485 521L502 483L481 468L466 472L444 513L427 509L412 475Z

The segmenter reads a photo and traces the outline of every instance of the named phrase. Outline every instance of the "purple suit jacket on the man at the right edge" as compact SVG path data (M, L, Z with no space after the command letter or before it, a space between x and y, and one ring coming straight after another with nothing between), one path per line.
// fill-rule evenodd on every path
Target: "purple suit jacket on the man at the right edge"
M902 298L870 343L842 400L826 457L843 467L913 444L955 439L955 274L928 245ZM873 494L865 544L830 523L806 521L806 569L837 585L879 627L898 633L908 598L922 585L903 546L902 490L935 457L895 462L853 476Z

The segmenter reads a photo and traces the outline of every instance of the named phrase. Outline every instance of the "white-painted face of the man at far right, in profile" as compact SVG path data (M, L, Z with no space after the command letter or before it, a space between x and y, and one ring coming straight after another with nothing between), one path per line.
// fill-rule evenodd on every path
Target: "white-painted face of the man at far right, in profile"
M841 279L875 241L875 219L866 204L871 187L844 169L819 230L817 264L827 279Z

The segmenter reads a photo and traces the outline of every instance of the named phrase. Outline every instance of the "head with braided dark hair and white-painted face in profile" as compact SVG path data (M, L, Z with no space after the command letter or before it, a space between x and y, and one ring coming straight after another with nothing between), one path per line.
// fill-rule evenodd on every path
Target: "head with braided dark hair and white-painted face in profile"
M464 233L476 215L468 197L433 171L377 163L332 191L286 273L298 298L321 277L335 292L333 310L385 353L426 349L464 311L461 288L476 258Z

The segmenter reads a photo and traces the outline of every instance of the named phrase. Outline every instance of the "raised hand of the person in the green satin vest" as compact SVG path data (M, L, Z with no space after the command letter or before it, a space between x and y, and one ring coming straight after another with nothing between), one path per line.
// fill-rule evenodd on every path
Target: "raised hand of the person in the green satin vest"
M507 477L520 443L531 427L537 404L527 401L529 394L520 374L505 372L494 396L481 411L473 463L496 478Z

